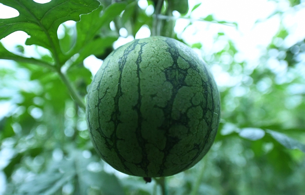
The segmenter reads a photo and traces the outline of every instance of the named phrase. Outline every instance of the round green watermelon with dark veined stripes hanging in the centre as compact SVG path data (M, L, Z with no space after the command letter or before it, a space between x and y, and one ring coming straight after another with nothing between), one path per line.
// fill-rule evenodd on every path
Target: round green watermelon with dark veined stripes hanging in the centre
M88 90L92 143L132 176L171 176L194 166L217 133L220 98L202 59L168 37L138 39L104 60Z

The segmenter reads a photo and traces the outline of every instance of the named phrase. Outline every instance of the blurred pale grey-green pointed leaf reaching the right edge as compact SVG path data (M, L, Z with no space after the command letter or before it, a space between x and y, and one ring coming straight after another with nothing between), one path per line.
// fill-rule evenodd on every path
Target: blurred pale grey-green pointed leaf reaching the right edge
M272 131L267 129L267 133L271 135L275 140L277 140L280 144L285 146L288 149L299 149L300 151L305 153L305 144L301 144L295 139L288 137L284 133L279 133L276 131Z

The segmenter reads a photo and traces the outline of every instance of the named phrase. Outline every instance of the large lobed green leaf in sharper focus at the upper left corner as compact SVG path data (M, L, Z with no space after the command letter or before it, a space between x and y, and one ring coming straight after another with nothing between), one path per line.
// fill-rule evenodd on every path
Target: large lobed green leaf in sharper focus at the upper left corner
M37 44L51 51L59 65L69 59L60 47L57 37L59 25L68 20L79 21L81 14L97 9L97 0L57 0L39 4L28 0L0 0L0 3L15 8L19 16L0 19L0 39L22 30L31 37L26 44Z

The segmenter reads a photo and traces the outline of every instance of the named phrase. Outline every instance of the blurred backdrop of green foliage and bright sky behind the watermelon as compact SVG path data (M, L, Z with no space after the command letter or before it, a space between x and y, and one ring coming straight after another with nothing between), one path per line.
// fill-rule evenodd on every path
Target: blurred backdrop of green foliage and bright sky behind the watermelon
M19 15L1 2L0 23ZM95 39L103 46L79 52L61 67L84 100L113 49L155 34L192 47L219 87L215 143L193 168L166 178L168 194L305 194L304 0L189 0L188 6L168 0L157 33L157 1L100 2L107 20ZM107 6L124 11L107 12ZM77 25L87 20L59 26L63 52L73 50L82 33ZM28 37L16 31L0 42L14 54L52 63L48 49L25 44ZM145 184L98 157L84 110L57 73L1 56L0 142L0 194L161 194L156 180Z

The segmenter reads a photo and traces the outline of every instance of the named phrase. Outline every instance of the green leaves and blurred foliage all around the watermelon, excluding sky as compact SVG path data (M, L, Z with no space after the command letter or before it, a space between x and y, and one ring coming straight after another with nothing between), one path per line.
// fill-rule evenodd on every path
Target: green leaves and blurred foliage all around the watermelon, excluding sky
M132 36L143 25L153 30L156 16L148 15L137 1L100 0L98 7L95 0L73 5L61 0L62 9L68 8L69 12L53 9L54 0L43 5L20 1L23 8L17 6L19 1L0 2L23 13L13 19L0 19L0 38L24 30L32 36L27 44L50 51L41 54L40 59L26 58L22 46L17 46L17 55L0 43L0 59L6 59L0 64L9 64L0 66L0 102L11 105L0 121L0 170L6 177L5 194L161 194L156 180L145 184L142 178L116 172L98 157L86 130L84 109L71 99L53 70L65 70L84 100L92 75L83 60L89 55L104 59L123 27ZM200 5L188 10L187 1L177 2L165 1L159 13L172 16L177 10L184 15ZM148 6L156 8L157 3L148 1ZM294 6L300 1L290 3ZM24 11L30 6L35 9ZM45 16L44 21L33 19L48 10L54 13ZM79 18L83 13L88 14ZM63 24L65 34L58 39L57 28L68 20L78 22L75 27ZM203 20L225 23L212 15ZM24 24L15 25L18 21ZM110 28L112 21L115 29ZM161 19L160 23L161 35L177 38L173 19ZM166 178L168 194L304 194L305 146L301 143L305 143L305 42L284 48L281 43L288 35L282 28L257 66L235 60L239 51L230 40L221 51L203 55L208 64L218 64L239 82L220 87L222 116L215 143L193 168ZM225 36L219 32L214 41ZM198 51L202 48L201 43L190 46Z

